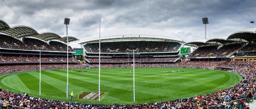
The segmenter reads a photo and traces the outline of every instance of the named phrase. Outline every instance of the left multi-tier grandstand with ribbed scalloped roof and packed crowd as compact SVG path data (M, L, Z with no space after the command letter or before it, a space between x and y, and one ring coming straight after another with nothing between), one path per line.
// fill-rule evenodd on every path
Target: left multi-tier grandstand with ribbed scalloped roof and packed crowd
M79 39L69 36L69 42ZM25 70L39 69L39 55L43 69L65 68L67 63L67 36L53 32L38 33L28 26L9 25L0 20L0 75ZM40 54L41 52L41 54ZM79 61L72 57L74 50L69 46L70 67ZM77 65L79 64L79 65Z

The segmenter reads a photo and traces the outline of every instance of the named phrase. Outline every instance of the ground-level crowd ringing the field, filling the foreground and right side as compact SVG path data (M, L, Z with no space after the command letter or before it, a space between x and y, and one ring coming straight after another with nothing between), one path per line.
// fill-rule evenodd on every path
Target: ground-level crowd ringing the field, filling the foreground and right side
M96 66L96 64L93 64ZM124 65L124 64L112 64L112 66ZM138 64L137 64L138 65ZM10 69L20 68L22 69L34 68L38 70L38 65L19 65L10 66ZM55 66L55 65L53 65ZM92 66L92 65L91 65ZM110 64L102 64L104 66L111 66ZM130 66L130 65L128 65ZM9 91L0 91L0 97L2 107L12 107L10 105L26 107L31 109L244 109L246 107L244 99L252 98L255 93L256 82L256 62L250 61L232 61L230 63L223 63L220 61L188 61L184 63L173 64L144 64L143 66L168 66L168 67L195 67L195 68L210 68L214 66L232 67L234 71L238 71L244 74L245 80L239 84L235 84L232 88L217 90L214 93L206 95L196 95L191 98L176 99L165 102L154 102L145 104L133 104L133 105L92 105L92 104L78 104L71 102L62 102L58 100L47 100L45 98L37 98L34 96L28 96L27 93L19 94ZM64 66L52 67L45 64L46 68L65 68ZM82 67L79 64L74 64L75 68ZM0 68L2 69L2 68Z

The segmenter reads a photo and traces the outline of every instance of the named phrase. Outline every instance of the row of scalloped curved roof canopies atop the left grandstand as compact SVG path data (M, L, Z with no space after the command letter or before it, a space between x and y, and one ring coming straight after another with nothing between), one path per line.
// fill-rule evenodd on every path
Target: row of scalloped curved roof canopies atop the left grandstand
M4 34L8 34L18 39L32 37L32 38L41 39L43 41L59 40L59 41L67 42L67 38L65 37L62 38L61 36L53 32L42 32L39 34L35 29L28 26L9 27L9 25L3 20L0 20L0 32ZM78 41L78 40L79 39L73 36L70 36L69 42Z

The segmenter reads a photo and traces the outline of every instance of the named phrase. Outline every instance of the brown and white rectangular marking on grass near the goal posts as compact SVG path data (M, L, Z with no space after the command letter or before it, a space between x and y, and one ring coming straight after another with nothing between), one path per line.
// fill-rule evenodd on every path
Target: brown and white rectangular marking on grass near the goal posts
M100 93L100 97L104 95L104 92ZM99 94L98 92L83 92L78 95L78 99L85 99L85 100L98 100Z

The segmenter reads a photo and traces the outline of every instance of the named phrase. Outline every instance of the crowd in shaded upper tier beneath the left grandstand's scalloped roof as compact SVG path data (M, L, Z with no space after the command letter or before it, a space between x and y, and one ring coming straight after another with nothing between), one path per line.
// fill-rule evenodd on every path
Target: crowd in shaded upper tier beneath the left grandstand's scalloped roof
M46 50L46 51L67 51L67 45L57 41L50 41L50 44L39 39L24 38L23 42L10 36L0 35L0 48L22 49L22 50ZM69 51L74 50L69 46Z

